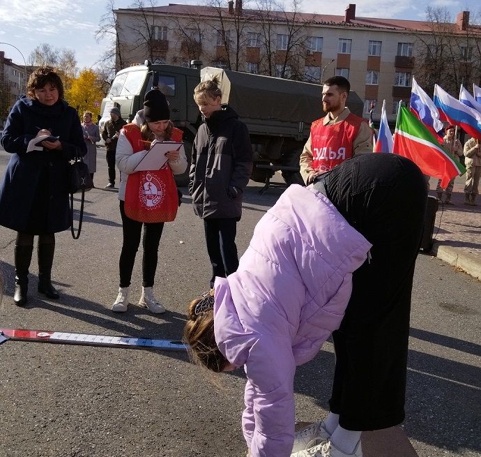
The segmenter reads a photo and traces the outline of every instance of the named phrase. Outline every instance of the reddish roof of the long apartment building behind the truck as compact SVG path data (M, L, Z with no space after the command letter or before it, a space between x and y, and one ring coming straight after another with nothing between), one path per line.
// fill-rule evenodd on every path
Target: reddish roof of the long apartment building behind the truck
M227 3L227 2L226 2ZM353 5L355 8L355 5ZM142 8L119 8L115 10L116 13L132 13L134 10L141 10ZM229 16L229 8L217 8L214 6L197 6L197 5L181 5L177 3L169 3L167 6L155 6L148 8L148 11L154 11L155 13L168 13L175 15L186 15L194 17L219 17L219 13L222 16ZM355 9L354 9L355 11ZM259 17L259 10L251 10L243 8L242 15L245 19L256 20ZM352 27L352 28L369 28L369 29L383 29L383 30L396 30L396 31L425 31L429 32L433 29L432 22L429 21L413 21L413 20L401 20L401 19L382 19L376 17L353 17L351 20L346 21L344 15L325 15L316 13L293 13L289 11L270 11L270 17L273 20L279 21L293 21L295 18L298 22L310 22L316 25L326 25L330 27ZM354 16L354 14L353 14ZM459 20L459 18L458 18ZM457 23L453 23L456 26ZM469 25L469 28L481 33L481 27L476 25ZM453 27L455 33L466 33L466 30L462 30L461 27Z

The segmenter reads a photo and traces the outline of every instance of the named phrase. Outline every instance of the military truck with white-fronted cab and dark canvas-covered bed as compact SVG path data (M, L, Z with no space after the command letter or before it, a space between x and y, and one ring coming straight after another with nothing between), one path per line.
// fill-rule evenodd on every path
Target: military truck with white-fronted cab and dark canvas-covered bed
M299 156L310 134L310 124L323 116L321 86L278 77L253 75L221 68L184 68L146 61L116 74L107 97L102 100L100 127L116 106L123 119L132 121L142 110L144 95L158 87L169 100L171 120L184 132L185 151L190 160L192 142L201 124L201 114L194 103L194 87L201 80L217 76L222 89L222 103L229 103L250 132L254 181L270 184L280 170L287 184L300 183ZM362 116L363 103L351 91L349 109ZM176 177L178 186L188 183L188 171Z

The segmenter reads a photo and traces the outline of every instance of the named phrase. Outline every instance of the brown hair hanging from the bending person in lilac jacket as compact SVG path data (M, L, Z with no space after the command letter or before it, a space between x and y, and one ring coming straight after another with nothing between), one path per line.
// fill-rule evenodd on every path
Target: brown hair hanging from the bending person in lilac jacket
M227 367L229 361L215 343L213 310L195 313L195 306L199 301L201 300L195 299L190 302L183 340L189 345L190 358L195 364L220 373Z

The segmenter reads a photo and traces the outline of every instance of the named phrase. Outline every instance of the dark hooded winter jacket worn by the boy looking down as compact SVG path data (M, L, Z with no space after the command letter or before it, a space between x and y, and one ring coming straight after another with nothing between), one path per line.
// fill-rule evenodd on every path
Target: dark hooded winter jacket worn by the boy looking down
M249 132L223 105L199 127L192 146L189 193L200 218L241 218L243 191L252 173Z

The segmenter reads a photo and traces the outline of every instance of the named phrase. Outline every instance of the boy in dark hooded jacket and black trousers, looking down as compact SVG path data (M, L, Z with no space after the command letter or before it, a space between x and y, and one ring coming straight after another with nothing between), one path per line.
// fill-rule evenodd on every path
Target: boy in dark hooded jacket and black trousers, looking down
M205 122L192 145L189 193L194 212L204 220L213 287L216 276L229 276L239 264L236 230L252 173L252 146L237 113L221 104L217 79L198 84L194 100Z

